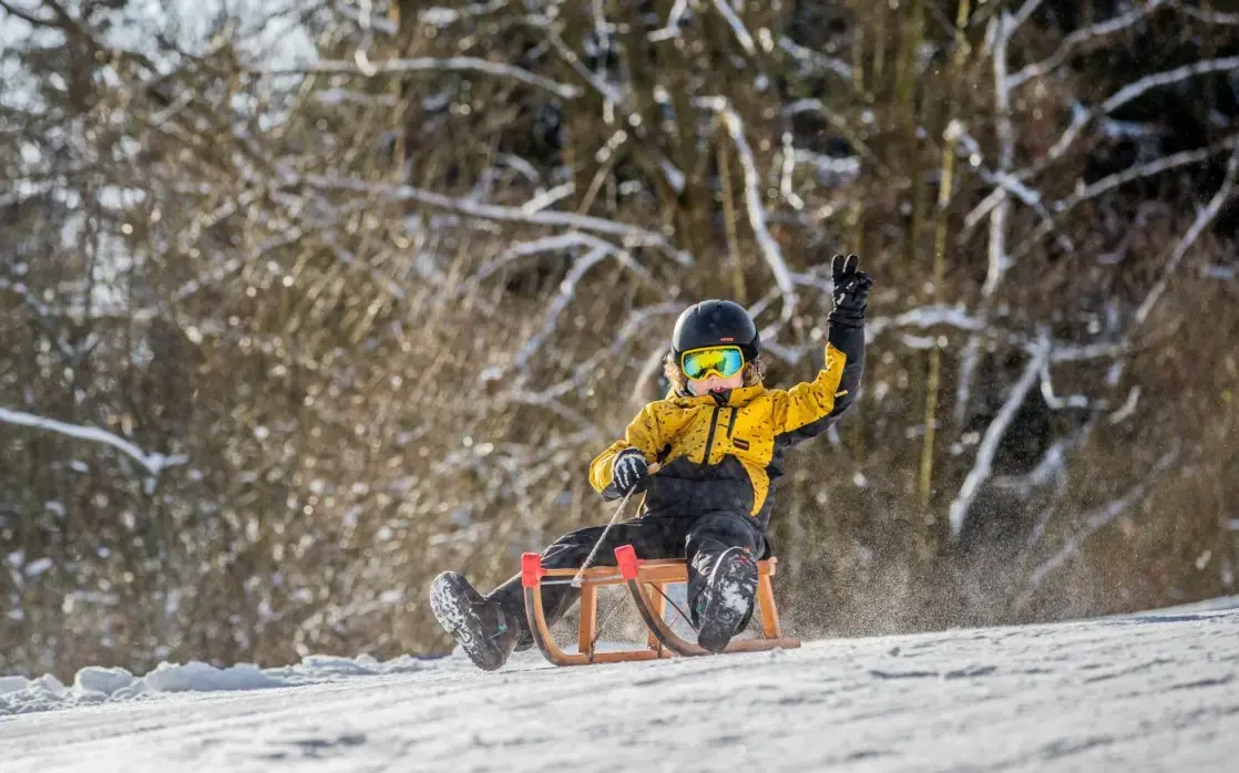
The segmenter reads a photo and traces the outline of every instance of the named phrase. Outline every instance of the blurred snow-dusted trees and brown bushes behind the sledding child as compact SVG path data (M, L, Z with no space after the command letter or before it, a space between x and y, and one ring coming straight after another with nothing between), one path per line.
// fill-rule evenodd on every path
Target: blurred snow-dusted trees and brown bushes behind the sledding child
M732 297L799 634L1233 592L1239 14L0 0L0 671L436 652Z

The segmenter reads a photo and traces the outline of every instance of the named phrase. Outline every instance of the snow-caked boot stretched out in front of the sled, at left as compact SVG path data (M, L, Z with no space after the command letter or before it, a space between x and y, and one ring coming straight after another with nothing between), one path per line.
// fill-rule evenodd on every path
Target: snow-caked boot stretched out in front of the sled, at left
M508 660L523 628L498 602L478 593L463 576L444 572L430 586L430 609L479 669L493 671Z

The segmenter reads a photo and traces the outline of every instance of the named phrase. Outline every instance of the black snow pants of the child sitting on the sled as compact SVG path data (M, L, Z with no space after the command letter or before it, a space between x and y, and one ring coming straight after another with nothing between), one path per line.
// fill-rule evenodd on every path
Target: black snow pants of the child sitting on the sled
M587 526L569 531L543 551L543 566L546 569L571 569L585 562L593 550L605 526ZM710 572L719 556L729 548L746 548L758 559L767 555L766 534L761 525L748 515L729 512L705 513L696 517L649 515L623 520L611 526L606 540L598 546L592 566L615 566L615 549L632 545L638 559L685 559L688 561L689 613L696 624L698 597L705 587ZM570 585L543 586L543 609L548 624L558 622L580 596L580 591ZM525 619L524 588L517 575L491 592L489 598L498 601L509 619ZM750 602L750 609L752 605ZM532 639L525 632L522 643Z

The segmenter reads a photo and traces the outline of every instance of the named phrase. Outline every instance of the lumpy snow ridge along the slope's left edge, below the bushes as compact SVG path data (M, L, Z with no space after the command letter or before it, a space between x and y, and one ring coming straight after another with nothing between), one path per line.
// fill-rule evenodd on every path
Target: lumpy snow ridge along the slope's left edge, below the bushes
M463 668L463 664L461 664ZM354 679L404 674L426 668L426 659L401 655L379 662L370 655L337 658L309 655L300 663L260 669L249 663L216 668L209 663L160 663L145 676L135 676L123 668L84 668L66 688L51 674L38 679L0 676L0 717L35 714L74 706L152 699L175 692L219 692L234 690L265 690L296 688Z

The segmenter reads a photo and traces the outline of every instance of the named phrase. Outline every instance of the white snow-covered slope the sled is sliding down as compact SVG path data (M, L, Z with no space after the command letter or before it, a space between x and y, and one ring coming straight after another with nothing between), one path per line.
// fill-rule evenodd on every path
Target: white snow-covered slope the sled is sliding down
M1239 611L1208 608L496 674L327 659L0 718L0 769L1239 771L1237 671Z

